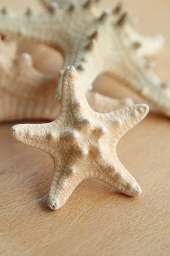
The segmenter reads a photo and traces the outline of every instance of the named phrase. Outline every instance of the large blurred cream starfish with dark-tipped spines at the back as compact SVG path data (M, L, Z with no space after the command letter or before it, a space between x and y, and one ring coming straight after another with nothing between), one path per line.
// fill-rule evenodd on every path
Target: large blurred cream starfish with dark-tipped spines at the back
M101 73L122 81L136 93L158 105L170 115L170 90L152 70L147 61L164 45L164 38L144 37L131 25L128 15L119 4L113 11L99 8L96 0L88 0L68 9L52 3L48 12L34 14L0 13L0 32L20 35L57 48L64 56L63 70L74 66L82 81L83 91L91 90ZM57 87L61 97L61 79Z

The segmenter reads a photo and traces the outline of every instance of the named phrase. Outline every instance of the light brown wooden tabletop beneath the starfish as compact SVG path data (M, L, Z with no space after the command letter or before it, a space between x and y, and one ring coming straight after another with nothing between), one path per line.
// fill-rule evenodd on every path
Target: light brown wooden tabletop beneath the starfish
M23 10L27 3L41 9L35 0L3 3L14 10ZM128 0L126 6L139 17L143 32L164 34L167 44L156 72L170 78L169 0ZM57 54L37 49L35 65L48 71L47 59L55 62L52 70L57 73ZM144 102L110 78L98 79L94 90ZM58 211L46 203L51 158L12 139L12 125L0 125L0 255L170 255L170 119L151 112L118 144L120 160L142 187L139 198L119 194L99 180L85 180Z

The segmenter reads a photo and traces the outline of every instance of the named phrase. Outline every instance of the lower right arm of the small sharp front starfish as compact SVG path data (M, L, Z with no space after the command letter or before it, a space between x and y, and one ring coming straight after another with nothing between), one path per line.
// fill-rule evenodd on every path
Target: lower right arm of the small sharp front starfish
M108 158L108 156L106 156ZM129 196L138 196L142 190L134 177L119 161L116 152L111 154L111 161L102 159L98 168L97 178L113 188ZM108 164L110 163L110 164Z

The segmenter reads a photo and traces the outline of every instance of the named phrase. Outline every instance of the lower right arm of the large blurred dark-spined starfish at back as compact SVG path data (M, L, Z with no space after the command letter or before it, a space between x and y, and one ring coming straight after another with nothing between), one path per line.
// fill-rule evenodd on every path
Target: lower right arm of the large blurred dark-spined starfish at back
M129 60L125 57L121 69L115 68L109 72L130 87L134 92L157 105L161 112L170 116L170 86L163 82L153 72L152 63L131 55Z

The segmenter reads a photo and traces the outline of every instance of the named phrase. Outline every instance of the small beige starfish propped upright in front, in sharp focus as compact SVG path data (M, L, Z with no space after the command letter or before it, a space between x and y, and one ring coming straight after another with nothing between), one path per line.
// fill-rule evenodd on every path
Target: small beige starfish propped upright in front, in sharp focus
M112 113L96 113L88 105L76 70L68 67L62 79L59 118L46 124L14 125L11 133L53 158L48 206L59 209L88 177L98 178L126 195L141 194L140 186L119 161L116 145L148 111L147 105L139 104Z

